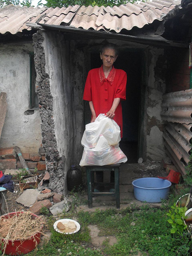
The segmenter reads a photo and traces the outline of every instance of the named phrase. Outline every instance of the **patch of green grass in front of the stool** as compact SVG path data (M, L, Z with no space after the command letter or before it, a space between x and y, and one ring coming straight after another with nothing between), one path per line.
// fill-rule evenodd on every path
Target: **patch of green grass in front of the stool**
M182 245L170 233L170 224L167 222L167 208L143 207L142 210L130 211L126 209L121 213L116 210L77 213L75 218L81 225L79 233L72 235L60 234L54 231L54 218L48 218L48 226L52 236L47 244L31 252L31 256L180 256L189 255L185 250L187 245ZM62 218L68 218L64 214ZM70 213L70 217L72 215ZM89 225L97 225L101 230L99 236L114 236L117 243L109 245L106 240L101 248L93 248L89 234ZM184 248L185 247L185 248Z

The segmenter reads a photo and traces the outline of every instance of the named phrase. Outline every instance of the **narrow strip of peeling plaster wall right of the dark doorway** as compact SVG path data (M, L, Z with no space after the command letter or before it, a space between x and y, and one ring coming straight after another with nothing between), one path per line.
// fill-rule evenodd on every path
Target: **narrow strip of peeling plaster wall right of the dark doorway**
M166 91L167 64L163 49L150 49L151 63L148 76L147 103L147 158L161 161L165 157L161 119L162 95Z

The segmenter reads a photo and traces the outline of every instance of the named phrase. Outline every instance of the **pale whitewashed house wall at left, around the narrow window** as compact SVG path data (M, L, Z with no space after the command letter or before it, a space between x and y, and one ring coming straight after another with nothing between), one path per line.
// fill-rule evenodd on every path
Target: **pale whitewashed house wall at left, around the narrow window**
M39 110L26 114L30 98L29 52L32 44L0 45L0 91L7 93L7 113L0 148L18 146L22 153L38 153L41 146Z

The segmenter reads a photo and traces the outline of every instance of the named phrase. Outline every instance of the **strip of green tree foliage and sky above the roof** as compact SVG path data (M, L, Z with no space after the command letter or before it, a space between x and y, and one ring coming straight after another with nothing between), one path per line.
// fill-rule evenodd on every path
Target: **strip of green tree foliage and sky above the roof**
M46 6L46 7L68 7L69 5L74 6L78 5L85 5L85 6L110 6L113 7L114 5L119 6L121 4L126 3L135 3L137 0L46 0L47 2L43 4L41 0L38 2L37 6ZM145 0L143 0L145 1ZM21 5L21 6L33 6L31 4L32 0L0 0L0 7L14 4L14 5Z

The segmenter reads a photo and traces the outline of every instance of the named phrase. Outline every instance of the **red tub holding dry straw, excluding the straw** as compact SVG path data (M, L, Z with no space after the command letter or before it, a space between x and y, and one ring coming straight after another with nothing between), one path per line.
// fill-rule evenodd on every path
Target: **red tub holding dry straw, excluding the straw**
M8 217L13 217L15 214L19 215L22 214L22 212L10 212L9 214L2 215L1 218L8 219ZM31 213L31 218L35 219L38 216ZM40 227L42 230L43 224ZM17 239L17 240L9 240L7 247L5 249L5 254L7 255L21 255L31 252L33 249L35 249L36 245L39 244L41 240L41 232L37 232L31 237L28 237L26 239ZM4 239L1 238L1 243L4 242Z

